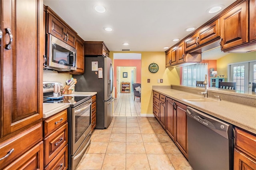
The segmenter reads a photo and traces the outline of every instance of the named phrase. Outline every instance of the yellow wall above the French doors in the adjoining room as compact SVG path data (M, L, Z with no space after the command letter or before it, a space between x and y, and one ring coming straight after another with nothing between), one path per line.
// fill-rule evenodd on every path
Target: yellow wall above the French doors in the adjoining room
M228 53L224 57L217 59L218 75L228 76L228 64L256 59L256 51L250 53Z

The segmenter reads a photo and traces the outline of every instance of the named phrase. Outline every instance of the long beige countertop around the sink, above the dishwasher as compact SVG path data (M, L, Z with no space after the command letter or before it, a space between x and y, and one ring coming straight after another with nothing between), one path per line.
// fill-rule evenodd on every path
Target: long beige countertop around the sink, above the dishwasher
M230 101L217 101L217 98L207 98L206 101L188 101L184 95L195 95L203 97L200 94L188 93L170 88L154 88L153 90L170 97L178 102L184 103L194 109L212 115L218 119L226 121L232 125L248 130L256 134L256 108L252 106L233 103ZM183 94L183 95L182 95Z

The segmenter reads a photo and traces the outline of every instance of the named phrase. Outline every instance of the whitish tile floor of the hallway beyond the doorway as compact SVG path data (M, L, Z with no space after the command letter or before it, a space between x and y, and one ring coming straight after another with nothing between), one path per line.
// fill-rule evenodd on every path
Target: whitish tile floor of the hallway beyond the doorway
M114 100L114 116L140 116L140 98L134 93L119 93L118 98Z

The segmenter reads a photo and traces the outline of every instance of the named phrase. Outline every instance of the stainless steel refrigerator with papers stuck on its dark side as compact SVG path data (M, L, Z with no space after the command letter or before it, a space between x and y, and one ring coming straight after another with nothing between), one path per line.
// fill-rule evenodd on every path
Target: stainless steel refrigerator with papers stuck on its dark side
M77 79L75 91L96 91L96 129L104 129L112 121L114 98L113 66L109 57L85 57L84 74ZM102 71L100 71L102 68Z

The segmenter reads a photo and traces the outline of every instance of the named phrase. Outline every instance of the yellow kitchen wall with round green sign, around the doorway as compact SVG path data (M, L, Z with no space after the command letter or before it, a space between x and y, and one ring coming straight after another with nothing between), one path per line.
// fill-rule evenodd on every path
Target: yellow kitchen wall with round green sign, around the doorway
M110 51L110 58L113 61L113 53L120 51ZM123 53L141 53L141 114L153 115L153 85L171 85L180 84L179 69L165 68L165 52L138 52L129 51ZM157 73L150 73L148 66L151 63L156 63L159 66ZM114 63L113 63L114 65ZM150 83L147 83L150 79ZM157 79L163 79L163 83L157 83Z

